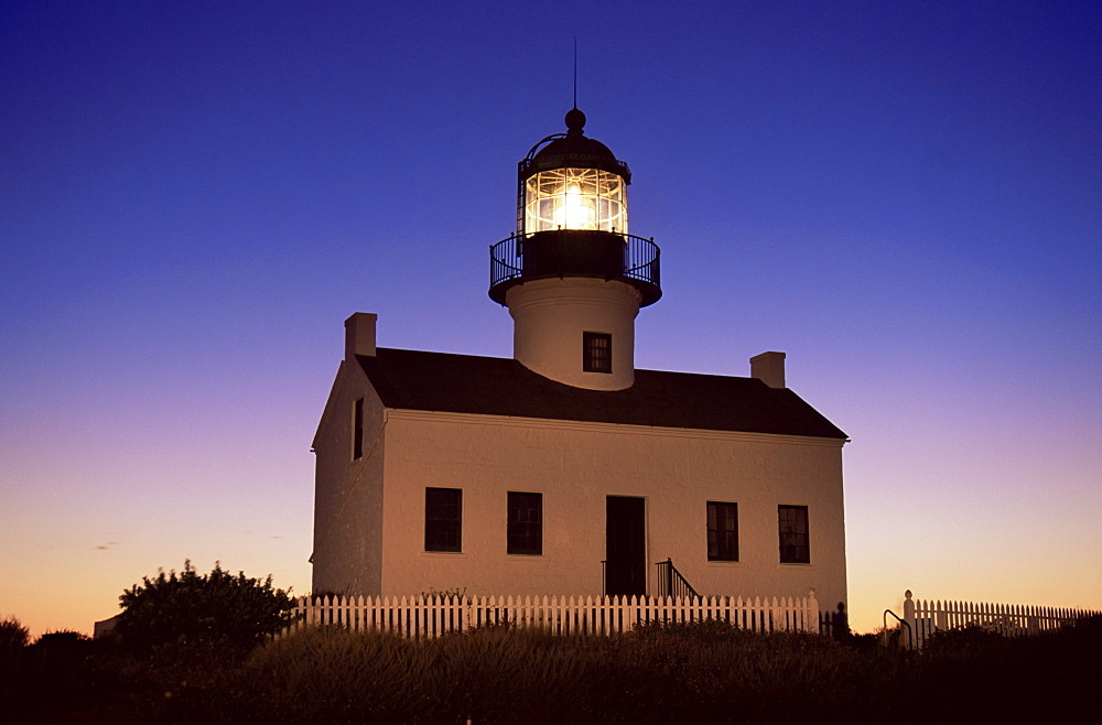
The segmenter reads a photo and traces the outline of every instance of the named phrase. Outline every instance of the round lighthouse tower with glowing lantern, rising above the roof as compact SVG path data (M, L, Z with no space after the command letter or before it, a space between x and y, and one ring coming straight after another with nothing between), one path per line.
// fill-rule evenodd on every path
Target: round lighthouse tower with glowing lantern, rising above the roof
M566 113L518 169L517 232L490 247L489 296L509 307L514 357L576 388L635 381L635 317L662 296L659 249L628 234L631 172Z

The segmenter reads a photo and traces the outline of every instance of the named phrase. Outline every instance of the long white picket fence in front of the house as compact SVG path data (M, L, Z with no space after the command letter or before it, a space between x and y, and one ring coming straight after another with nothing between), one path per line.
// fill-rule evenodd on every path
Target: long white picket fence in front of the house
M755 632L819 631L814 589L804 597L465 596L300 597L290 631L315 625L439 637L487 627L539 628L555 635L616 635L637 624L726 621Z

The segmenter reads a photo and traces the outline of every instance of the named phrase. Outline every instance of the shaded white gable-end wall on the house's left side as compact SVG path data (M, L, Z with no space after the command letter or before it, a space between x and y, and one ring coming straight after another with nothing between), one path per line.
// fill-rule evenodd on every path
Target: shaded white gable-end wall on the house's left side
M364 398L364 451L353 458L353 412ZM379 594L382 576L382 402L355 362L342 362L314 439L315 593Z

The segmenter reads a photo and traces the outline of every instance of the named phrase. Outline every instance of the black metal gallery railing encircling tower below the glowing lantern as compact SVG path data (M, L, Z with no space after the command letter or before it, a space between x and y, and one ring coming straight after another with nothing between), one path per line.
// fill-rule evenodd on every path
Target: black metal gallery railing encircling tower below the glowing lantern
M644 289L644 305L656 302L661 296L661 250L655 244L653 238L636 237L628 234L615 232L592 232L595 237L609 238L623 245L623 251L616 252L617 258L612 260L609 267L607 260L595 260L587 258L584 250L570 249L573 241L583 245L592 244L582 235L572 234L566 238L563 230L563 239L555 240L555 247L541 249L542 253L538 263L536 259L525 259L526 241L532 239L534 235L515 234L501 241L491 245L489 248L489 286L490 296L504 303L504 291L514 281L521 281L521 278L531 277L560 277L563 274L591 274L599 270L602 275L613 279L624 279L636 286ZM530 245L545 247L554 232L539 232L540 241L531 241ZM576 239L574 237L576 236ZM550 237L550 238L549 238ZM604 245L601 245L602 247ZM534 249L534 247L533 247ZM615 251L615 249L613 249ZM550 253L549 253L550 252ZM580 253L581 252L581 253ZM591 262L599 262L591 267Z

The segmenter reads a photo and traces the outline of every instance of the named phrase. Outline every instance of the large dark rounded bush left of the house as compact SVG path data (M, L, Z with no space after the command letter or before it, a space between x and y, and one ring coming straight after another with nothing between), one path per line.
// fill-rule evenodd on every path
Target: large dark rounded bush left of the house
M216 562L199 575L190 561L180 574L161 570L142 577L119 597L122 614L115 634L128 649L149 649L187 641L216 641L248 649L280 631L291 620L294 603L264 580L224 572Z

